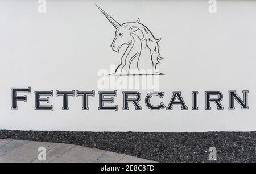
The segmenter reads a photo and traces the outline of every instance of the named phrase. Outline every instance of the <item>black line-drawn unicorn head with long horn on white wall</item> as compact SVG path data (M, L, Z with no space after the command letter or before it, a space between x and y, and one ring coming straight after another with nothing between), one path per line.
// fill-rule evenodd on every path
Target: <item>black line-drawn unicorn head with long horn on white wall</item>
M115 28L115 38L111 44L113 51L119 53L122 46L126 47L121 57L121 64L115 69L114 75L163 75L156 69L163 59L159 53L160 39L156 39L152 32L139 22L139 19L121 25L100 7L98 9Z

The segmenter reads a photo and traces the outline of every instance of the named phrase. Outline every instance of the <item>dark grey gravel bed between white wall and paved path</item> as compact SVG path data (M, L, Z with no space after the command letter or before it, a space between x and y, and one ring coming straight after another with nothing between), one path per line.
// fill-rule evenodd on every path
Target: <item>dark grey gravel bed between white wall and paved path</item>
M159 162L256 162L256 132L69 132L0 130L0 139L76 144Z

